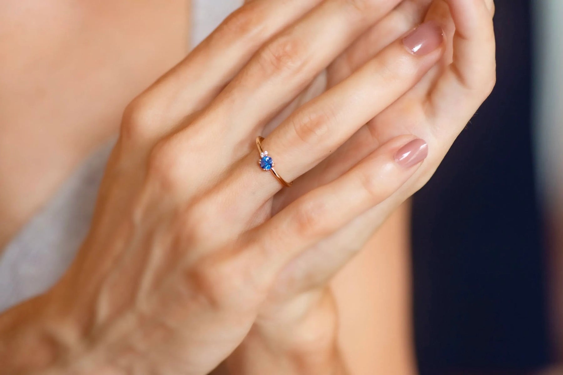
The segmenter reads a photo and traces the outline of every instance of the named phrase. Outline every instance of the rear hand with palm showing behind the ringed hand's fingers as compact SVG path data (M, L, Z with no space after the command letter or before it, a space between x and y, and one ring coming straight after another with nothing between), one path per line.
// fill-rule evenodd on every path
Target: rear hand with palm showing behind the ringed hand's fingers
M231 372L238 373L233 369L240 367L241 362L251 363L252 365L247 364L247 367L255 371L263 370L267 366L279 368L279 354L276 358L263 353L257 355L256 348L277 344L276 347L285 345L295 349L296 346L303 345L303 342L300 342L292 346L296 337L300 337L296 331L306 332L301 336L307 337L310 345L303 351L309 354L311 346L318 347L320 352L333 349L333 345L328 343L334 342L334 337L330 336L334 335L334 327L303 323L318 321L315 316L327 316L327 309L332 309L332 314L336 314L334 305L325 302L325 296L329 294L326 289L328 280L363 247L399 203L426 183L455 136L494 86L495 42L491 23L494 3L492 0L485 0L484 3L486 11L479 2L472 4L461 0L432 3L428 0L404 1L372 26L329 66L327 81L330 88L379 53L391 40L403 35L423 20L440 24L446 33L448 52L441 64L426 74L422 82L400 100L370 120L319 166L302 176L293 189L283 190L276 195L275 212L307 191L338 178L360 162L365 155L372 153L379 145L385 144L396 135L413 133L425 140L431 140L430 150L433 152L430 154L430 160L425 162L417 175L392 197L303 252L282 271L270 293L268 309L263 309L254 324L253 334L229 359L234 363L230 366ZM450 7L454 17L450 13ZM458 34L455 34L456 28ZM306 92L301 101L317 94L318 92ZM288 310L288 306L291 306L296 317L293 320L287 319L287 314L279 314L279 311ZM324 321L336 324L337 319ZM257 342L260 342L260 345ZM323 342L327 342L327 345L319 344ZM249 370L245 373L254 372ZM269 373L272 373L271 370Z

